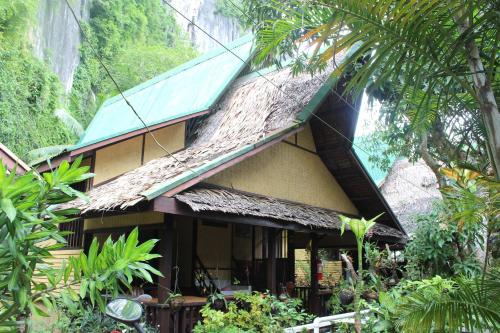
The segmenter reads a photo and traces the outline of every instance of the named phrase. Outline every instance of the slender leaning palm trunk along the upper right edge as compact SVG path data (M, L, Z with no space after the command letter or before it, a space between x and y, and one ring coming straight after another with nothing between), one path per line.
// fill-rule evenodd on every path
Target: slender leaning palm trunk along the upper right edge
M469 19L461 13L457 19L458 30L463 33L470 27ZM490 155L491 166L495 171L497 179L500 179L500 113L495 100L495 94L491 88L490 80L484 70L479 49L474 40L465 43L467 62L474 79L476 88L476 97L479 101L479 110L483 116L483 122L486 128L486 140Z

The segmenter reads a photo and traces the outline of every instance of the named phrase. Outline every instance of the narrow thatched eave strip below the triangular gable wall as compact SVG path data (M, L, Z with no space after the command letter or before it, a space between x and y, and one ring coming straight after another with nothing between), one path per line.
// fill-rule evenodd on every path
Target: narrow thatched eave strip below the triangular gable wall
M210 211L271 218L298 223L311 229L339 230L341 224L339 213L329 209L213 185L203 184L190 188L175 195L175 198L188 204L196 212ZM399 230L379 223L372 230L378 236L400 239L406 237Z

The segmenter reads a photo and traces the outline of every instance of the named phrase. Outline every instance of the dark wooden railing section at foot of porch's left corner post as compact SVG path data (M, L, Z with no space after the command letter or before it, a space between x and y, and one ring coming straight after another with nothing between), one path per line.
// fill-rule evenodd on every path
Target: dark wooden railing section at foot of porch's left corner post
M144 304L146 323L157 327L160 333L190 333L201 319L203 305L205 303L182 304L172 309L168 304Z

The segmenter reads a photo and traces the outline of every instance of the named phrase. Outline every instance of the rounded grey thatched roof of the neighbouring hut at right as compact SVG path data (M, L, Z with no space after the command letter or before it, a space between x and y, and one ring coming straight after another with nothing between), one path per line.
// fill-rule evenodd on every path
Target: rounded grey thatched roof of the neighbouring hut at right
M408 234L415 231L415 216L428 213L442 198L436 176L423 161L395 161L380 190Z

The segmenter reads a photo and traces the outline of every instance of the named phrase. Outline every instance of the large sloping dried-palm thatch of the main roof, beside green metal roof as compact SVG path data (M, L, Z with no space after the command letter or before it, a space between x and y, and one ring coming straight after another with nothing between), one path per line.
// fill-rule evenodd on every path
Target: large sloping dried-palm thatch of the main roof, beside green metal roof
M343 54L338 57L341 61ZM274 85L262 77L236 81L200 126L197 138L175 158L166 154L154 159L94 188L88 193L89 202L78 199L70 206L86 212L135 205L145 199L145 191L293 125L297 114L327 80L328 72L293 77L290 69L284 68L266 74Z

